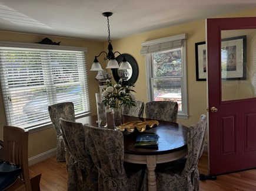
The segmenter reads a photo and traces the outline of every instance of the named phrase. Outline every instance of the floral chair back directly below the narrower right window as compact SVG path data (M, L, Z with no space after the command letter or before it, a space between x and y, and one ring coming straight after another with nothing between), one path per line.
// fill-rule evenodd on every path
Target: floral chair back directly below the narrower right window
M174 101L149 101L145 104L146 118L177 122L178 103Z

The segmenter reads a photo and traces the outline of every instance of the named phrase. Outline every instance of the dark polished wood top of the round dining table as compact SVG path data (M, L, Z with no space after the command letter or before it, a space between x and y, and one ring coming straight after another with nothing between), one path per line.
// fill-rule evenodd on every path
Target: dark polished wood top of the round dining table
M107 114L108 119L108 127L113 127L112 115L110 113ZM139 117L131 117L128 115L122 116L123 123L129 121L146 121L150 120L147 118L139 118ZM82 123L89 124L95 127L97 125L97 115L91 115L83 118ZM134 154L134 155L162 155L169 154L175 151L181 151L187 148L187 133L188 127L184 125L177 124L175 122L168 121L160 121L158 120L159 125L154 128L150 128L145 130L144 132L134 131L129 133L128 131L123 132L124 134L124 152L126 154ZM158 149L143 149L143 148L135 148L135 141L138 134L142 133L154 133L159 136L158 138Z

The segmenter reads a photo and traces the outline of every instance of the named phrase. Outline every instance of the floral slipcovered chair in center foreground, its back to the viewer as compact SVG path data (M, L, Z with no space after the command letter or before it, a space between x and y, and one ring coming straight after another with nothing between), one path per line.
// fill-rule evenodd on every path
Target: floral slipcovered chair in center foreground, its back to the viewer
M85 142L98 169L99 190L144 190L145 165L124 163L121 131L85 124Z

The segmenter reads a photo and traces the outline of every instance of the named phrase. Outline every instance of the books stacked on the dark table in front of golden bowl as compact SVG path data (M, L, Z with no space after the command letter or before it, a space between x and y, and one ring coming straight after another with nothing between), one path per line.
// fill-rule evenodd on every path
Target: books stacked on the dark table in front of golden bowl
M158 149L158 138L157 134L139 134L135 148Z

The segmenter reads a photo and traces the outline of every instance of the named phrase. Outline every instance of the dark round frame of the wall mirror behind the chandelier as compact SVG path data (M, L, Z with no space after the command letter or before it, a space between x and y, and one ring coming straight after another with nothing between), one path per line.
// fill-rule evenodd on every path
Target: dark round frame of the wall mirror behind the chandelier
M127 60L127 62L129 64L131 64L131 67L132 67L131 78L129 80L122 81L122 84L124 86L129 86L131 84L135 84L135 82L137 81L138 75L139 75L139 69L138 69L138 64L137 64L136 60L130 54L121 54L118 57L116 57L115 60L117 60L118 64L120 64L122 62L122 60L124 59L123 56L125 56L125 59ZM120 77L118 76L118 69L112 69L112 74L113 74L115 81L120 80Z

